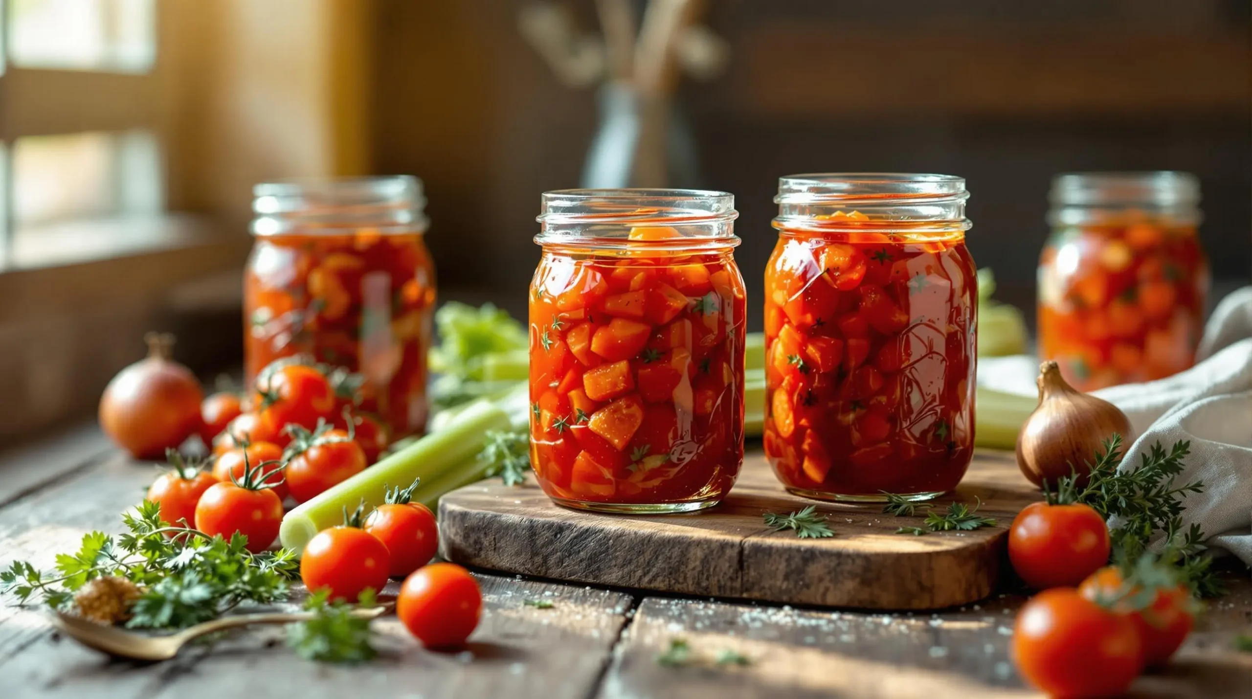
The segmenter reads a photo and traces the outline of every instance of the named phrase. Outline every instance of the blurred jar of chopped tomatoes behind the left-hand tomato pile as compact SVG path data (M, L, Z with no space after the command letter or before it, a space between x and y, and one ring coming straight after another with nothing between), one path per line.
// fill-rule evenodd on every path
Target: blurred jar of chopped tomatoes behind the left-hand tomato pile
M412 177L253 188L244 268L244 372L307 355L364 380L362 410L393 436L426 427L434 267Z

